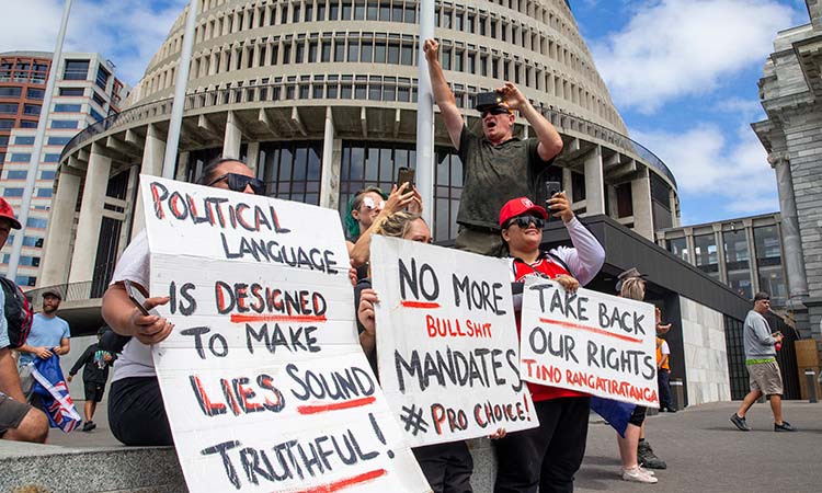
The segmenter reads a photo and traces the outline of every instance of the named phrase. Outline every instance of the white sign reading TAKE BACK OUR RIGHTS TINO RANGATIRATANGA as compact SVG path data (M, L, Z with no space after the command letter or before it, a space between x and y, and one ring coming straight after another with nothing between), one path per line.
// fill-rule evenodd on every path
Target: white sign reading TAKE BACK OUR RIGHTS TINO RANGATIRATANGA
M653 305L525 278L523 379L659 408Z

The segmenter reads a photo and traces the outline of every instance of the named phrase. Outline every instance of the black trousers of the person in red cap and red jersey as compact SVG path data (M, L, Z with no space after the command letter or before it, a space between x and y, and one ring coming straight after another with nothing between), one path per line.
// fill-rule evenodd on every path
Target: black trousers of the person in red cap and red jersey
M585 456L591 398L535 402L539 427L492 440L496 455L494 493L573 491Z

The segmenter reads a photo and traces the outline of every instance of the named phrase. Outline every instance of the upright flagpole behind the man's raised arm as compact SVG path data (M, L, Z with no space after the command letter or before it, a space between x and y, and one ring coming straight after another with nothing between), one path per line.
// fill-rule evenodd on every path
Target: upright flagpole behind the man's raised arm
M422 45L434 37L434 0L420 2L420 39L416 54L416 188L422 195L422 216L434 229L434 94L429 62Z

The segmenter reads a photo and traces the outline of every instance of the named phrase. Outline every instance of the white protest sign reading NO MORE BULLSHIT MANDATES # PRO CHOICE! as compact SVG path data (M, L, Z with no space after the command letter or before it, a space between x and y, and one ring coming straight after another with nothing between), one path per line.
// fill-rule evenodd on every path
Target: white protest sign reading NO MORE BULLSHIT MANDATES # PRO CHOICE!
M377 234L370 251L379 377L412 446L538 426L507 262Z

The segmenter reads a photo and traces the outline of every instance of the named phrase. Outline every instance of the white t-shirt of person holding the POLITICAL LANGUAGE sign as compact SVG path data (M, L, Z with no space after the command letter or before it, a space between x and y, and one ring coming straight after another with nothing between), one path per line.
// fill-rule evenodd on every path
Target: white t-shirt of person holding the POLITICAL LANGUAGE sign
M128 279L148 290L151 278L150 265L148 234L142 230L123 252L123 256L114 270L111 284ZM130 377L153 377L155 375L157 374L155 372L155 362L151 358L151 346L137 341L137 337L132 337L123 349L123 354L114 364L112 381Z

